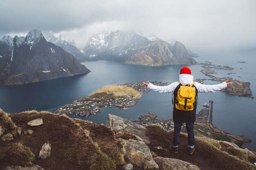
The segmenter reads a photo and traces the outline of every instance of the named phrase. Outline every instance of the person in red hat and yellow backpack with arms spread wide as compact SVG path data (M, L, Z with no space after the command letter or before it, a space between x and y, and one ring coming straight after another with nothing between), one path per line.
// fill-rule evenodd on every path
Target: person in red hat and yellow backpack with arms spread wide
M171 146L171 152L177 154L180 130L182 123L186 123L186 131L188 133L188 154L192 155L195 151L194 141L194 122L197 105L197 93L216 92L222 88L226 88L231 85L232 82L225 82L216 85L205 85L198 82L194 82L191 70L188 67L182 67L180 70L178 82L173 82L168 86L155 86L148 81L143 82L145 86L153 91L159 93L173 93L173 145Z

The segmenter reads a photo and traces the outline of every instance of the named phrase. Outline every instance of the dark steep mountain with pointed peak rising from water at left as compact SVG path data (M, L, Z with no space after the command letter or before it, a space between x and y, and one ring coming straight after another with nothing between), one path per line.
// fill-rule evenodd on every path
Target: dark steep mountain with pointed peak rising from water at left
M5 36L0 40L0 84L24 84L56 79L90 70L51 42L38 30L26 37Z

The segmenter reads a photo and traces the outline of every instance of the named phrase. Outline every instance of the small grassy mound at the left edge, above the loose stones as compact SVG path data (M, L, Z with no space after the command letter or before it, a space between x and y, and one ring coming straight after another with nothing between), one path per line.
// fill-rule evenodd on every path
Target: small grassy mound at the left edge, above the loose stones
M11 120L7 113L5 113L2 109L0 109L0 125L4 130L8 130L10 132L14 132L17 128L15 123Z

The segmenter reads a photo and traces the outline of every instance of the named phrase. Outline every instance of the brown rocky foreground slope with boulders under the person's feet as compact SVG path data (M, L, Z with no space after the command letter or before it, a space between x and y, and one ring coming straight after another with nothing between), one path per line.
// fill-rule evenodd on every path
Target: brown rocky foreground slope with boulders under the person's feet
M108 115L106 126L46 111L0 109L1 170L255 170L256 155L227 141L195 137L187 154L169 148L173 130Z

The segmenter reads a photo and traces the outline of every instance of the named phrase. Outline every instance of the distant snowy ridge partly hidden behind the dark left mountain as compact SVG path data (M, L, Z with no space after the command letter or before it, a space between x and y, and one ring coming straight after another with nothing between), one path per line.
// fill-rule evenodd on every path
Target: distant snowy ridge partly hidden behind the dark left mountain
M58 37L56 37L50 33L46 34L45 39L47 40L47 42L52 42L53 44L60 46L65 51L74 55L74 57L76 57L76 59L79 62L84 62L86 60L89 60L88 57L86 57L79 49L76 48L76 44L74 40L70 40L62 36L61 34Z

